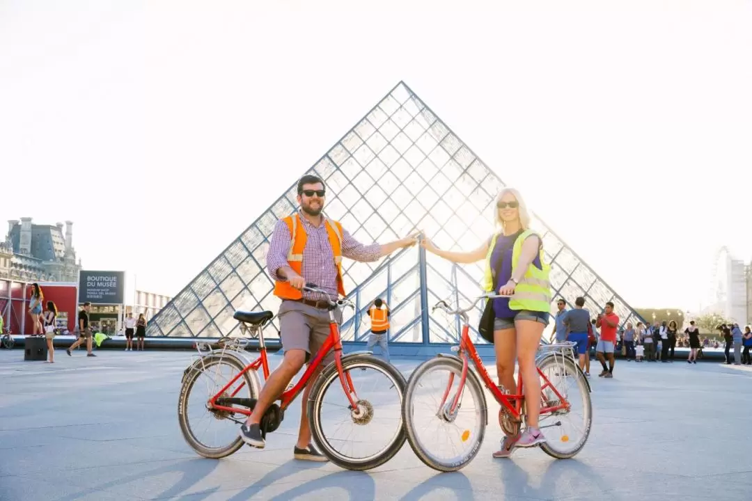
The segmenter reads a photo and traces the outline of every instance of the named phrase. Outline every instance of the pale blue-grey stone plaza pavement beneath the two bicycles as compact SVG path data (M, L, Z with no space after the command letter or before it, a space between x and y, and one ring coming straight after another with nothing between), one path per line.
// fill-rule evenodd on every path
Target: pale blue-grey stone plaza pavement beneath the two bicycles
M620 361L593 377L593 430L572 460L536 449L494 460L490 429L465 469L439 473L405 443L368 472L292 458L299 403L264 451L199 457L177 425L191 352L0 350L0 499L752 499L752 371ZM280 358L272 356L274 366ZM407 376L419 361L396 360ZM593 366L596 370L597 366Z

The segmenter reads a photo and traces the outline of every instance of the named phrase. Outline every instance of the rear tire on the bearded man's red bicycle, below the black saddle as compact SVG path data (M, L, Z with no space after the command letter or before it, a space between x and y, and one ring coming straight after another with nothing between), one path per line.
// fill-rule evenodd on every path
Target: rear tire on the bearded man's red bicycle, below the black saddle
M198 379L199 376L210 367L213 367L216 364L228 364L234 369L241 371L244 369L244 366L235 358L226 356L223 357L220 355L208 355L202 360L203 364L194 364L189 373L185 376L183 385L180 387L180 397L177 400L177 421L180 424L180 432L183 433L183 438L186 440L186 442L188 442L188 445L190 445L194 451L198 452L203 457L208 457L210 459L220 459L222 457L227 457L230 454L234 454L236 451L238 451L238 449L243 446L243 439L241 439L239 435L235 436L235 440L223 447L207 447L206 445L202 444L202 442L193 435L193 431L191 430L190 424L188 422L188 397L190 397L190 391L191 389L193 389L193 385L196 383L196 379ZM250 398L258 398L258 395L256 394L256 387L253 385L253 382L250 379L250 375L248 373L244 373L243 378L245 384L249 388ZM217 391L219 391L220 389L221 387L217 388Z

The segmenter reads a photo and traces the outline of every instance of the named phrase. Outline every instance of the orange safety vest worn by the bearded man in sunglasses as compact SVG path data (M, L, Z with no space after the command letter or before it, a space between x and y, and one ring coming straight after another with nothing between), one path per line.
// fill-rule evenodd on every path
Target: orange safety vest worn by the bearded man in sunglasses
M287 216L283 221L287 223L287 228L290 229L290 236L292 237L290 239L290 251L287 252L287 263L295 270L295 273L303 276L303 249L305 249L305 243L308 240L308 235L305 234L305 226L303 226L300 215L297 213L293 216ZM344 283L342 282L342 225L338 221L324 218L324 226L334 253L334 262L337 265L337 291L345 296L347 294L344 293ZM303 297L302 291L294 288L287 280L274 282L274 295L282 299L293 300Z

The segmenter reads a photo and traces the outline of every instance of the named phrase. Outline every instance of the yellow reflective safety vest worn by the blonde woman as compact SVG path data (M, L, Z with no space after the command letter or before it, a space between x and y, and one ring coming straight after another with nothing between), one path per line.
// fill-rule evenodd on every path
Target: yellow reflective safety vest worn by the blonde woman
M512 273L517 269L517 263L520 261L520 251L522 244L527 237L535 234L535 231L525 230L514 240L512 247ZM493 248L496 246L496 239L499 234L494 234L491 239L491 245L486 254L486 270L483 276L481 286L486 292L491 292L493 288L493 275L491 274L491 255ZM551 285L548 280L548 273L551 267L545 263L543 249L540 249L540 259L542 270L538 270L535 264L530 263L525 272L525 276L520 279L514 287L514 294L509 299L509 309L529 309L533 312L550 312L551 311ZM501 284L500 284L501 285Z

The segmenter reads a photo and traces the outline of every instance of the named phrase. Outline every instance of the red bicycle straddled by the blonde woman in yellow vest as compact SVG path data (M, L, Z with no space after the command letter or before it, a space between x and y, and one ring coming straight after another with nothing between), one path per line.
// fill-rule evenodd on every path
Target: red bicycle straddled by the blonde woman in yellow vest
M483 385L501 405L499 424L508 436L520 433L525 416L522 378L517 375L517 393L508 394L493 383L469 334L467 312L481 299L502 297L484 294L476 298L465 309L451 310L446 301L439 301L433 310L443 309L449 315L459 315L462 320L462 334L455 355L438 355L423 362L408 379L405 400L402 403L402 420L411 448L420 460L433 469L452 472L468 464L478 451L488 424L488 409ZM584 447L590 435L592 408L590 405L590 384L575 363L573 346L575 343L542 345L535 365L541 377L540 428L547 430L547 442L541 448L557 458L573 457ZM470 367L475 365L475 371ZM438 373L438 374L437 374ZM448 374L447 374L448 373ZM478 378L480 374L480 379ZM566 387L566 378L571 377L578 394ZM554 385L550 379L561 379ZM435 391L432 387L435 386ZM422 404L420 397L426 394L429 403ZM578 405L573 405L578 404ZM572 426L562 424L581 407L582 415ZM550 420L550 421L549 421ZM427 433L423 433L428 430ZM580 433L575 439L572 433ZM454 443L454 441L458 443ZM447 442L451 442L447 445ZM433 452L433 448L448 450L447 455Z

